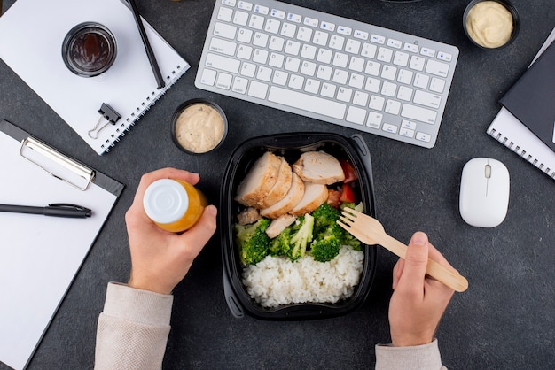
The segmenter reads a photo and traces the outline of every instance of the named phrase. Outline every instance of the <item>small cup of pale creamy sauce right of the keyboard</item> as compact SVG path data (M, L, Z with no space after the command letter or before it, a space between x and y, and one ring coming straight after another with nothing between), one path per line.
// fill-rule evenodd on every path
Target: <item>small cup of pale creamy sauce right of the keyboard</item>
M507 46L519 34L519 14L507 0L473 0L466 6L463 27L482 49Z

